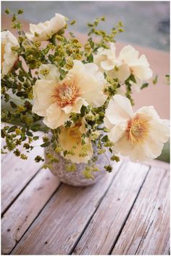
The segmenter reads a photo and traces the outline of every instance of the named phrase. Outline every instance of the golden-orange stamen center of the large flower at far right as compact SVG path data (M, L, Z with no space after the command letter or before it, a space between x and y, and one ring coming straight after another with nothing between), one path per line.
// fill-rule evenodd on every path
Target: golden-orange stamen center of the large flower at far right
M143 143L149 133L149 128L149 122L146 119L138 118L138 116L128 121L126 133L130 143L132 145Z

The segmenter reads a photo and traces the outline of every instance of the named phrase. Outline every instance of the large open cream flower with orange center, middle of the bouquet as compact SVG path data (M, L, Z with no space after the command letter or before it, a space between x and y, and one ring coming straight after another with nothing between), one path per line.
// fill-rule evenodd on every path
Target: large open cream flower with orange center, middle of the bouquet
M55 129L64 124L70 113L80 113L82 105L100 107L107 100L106 80L93 63L75 60L73 68L62 81L38 79L33 87L33 112L44 116L47 127Z

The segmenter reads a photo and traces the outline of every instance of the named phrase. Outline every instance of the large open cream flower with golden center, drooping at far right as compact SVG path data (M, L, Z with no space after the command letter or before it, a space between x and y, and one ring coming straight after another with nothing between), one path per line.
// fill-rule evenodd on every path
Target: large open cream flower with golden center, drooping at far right
M132 161L157 158L170 136L168 124L159 118L153 106L133 113L130 100L122 95L114 95L109 101L104 124L110 129L114 151Z

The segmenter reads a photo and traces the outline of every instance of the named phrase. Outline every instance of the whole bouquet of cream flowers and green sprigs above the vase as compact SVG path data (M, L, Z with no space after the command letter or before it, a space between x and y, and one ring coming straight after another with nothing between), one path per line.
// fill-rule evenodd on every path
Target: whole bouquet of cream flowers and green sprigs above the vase
M17 37L1 32L2 153L13 151L27 159L39 139L33 132L41 130L40 146L47 148L49 159L45 168L58 161L49 147L68 160L67 170L87 164L87 178L98 171L101 154L109 160L107 172L120 155L132 161L157 158L169 127L153 106L133 113L132 89L147 87L152 71L146 56L130 45L116 54L115 37L123 32L122 23L107 33L99 29L104 17L97 18L88 23L88 39L82 44L71 32L74 20L69 23L56 14L45 23L30 24L25 33L21 14L12 14ZM35 161L44 161L43 156Z

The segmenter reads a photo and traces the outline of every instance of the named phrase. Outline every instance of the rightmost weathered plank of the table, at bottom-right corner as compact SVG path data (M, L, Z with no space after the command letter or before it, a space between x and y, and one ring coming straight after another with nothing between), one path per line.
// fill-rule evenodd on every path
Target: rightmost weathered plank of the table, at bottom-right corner
M151 167L113 255L164 255L169 251L169 172Z

